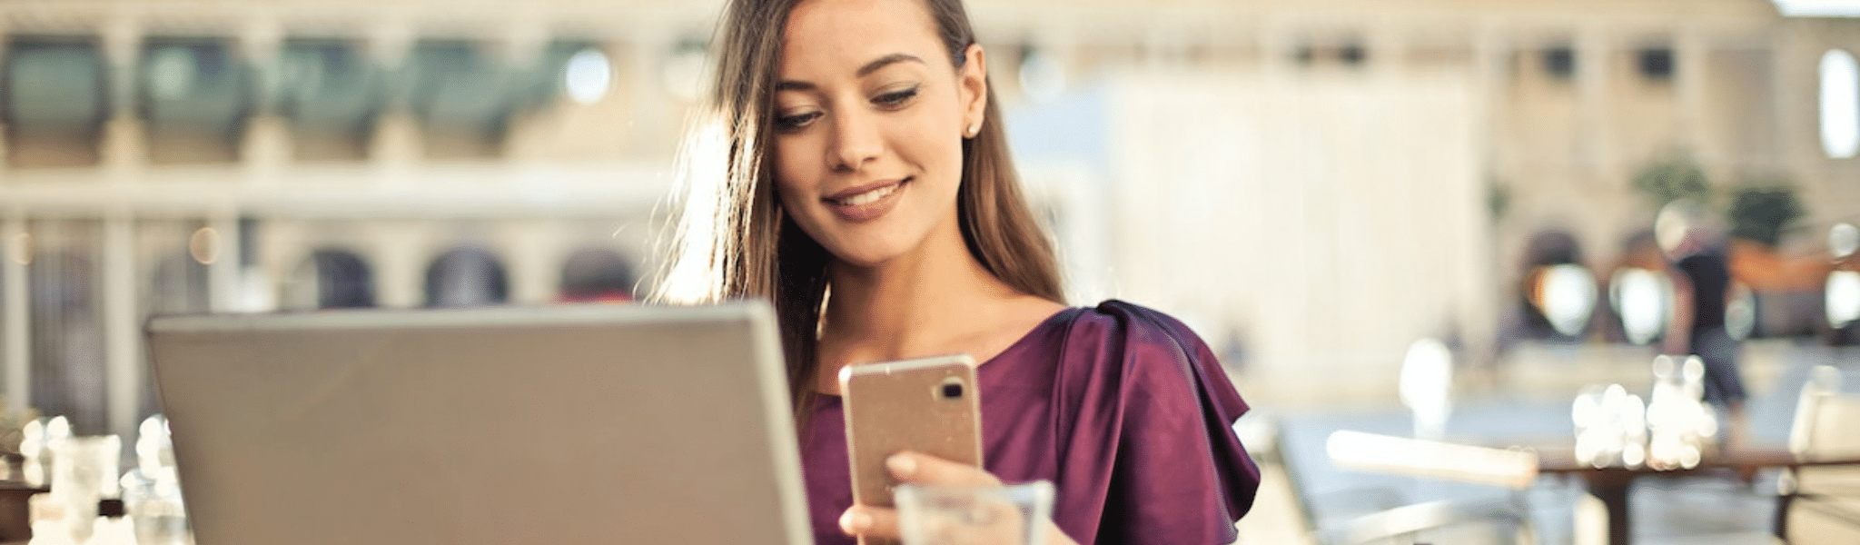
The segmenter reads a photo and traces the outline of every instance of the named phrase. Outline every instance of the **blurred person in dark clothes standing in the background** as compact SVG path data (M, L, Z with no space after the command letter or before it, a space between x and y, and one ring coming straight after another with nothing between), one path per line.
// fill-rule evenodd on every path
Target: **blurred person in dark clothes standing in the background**
M1739 342L1724 327L1732 272L1724 229L1689 199L1672 201L1654 221L1661 249L1672 259L1672 320L1667 322L1667 353L1698 355L1706 363L1706 402L1728 419L1724 439L1735 445L1745 433L1745 387L1737 370Z

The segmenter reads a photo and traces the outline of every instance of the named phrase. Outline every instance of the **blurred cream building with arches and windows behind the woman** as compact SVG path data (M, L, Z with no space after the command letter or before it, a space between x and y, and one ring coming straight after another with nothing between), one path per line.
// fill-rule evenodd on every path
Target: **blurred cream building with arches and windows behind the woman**
M1747 335L1840 337L1823 234L1860 216L1856 19L969 4L1073 303L1183 316L1252 398L1391 402L1419 337L1492 383L1650 355L1618 301L1663 301L1622 286L1663 270L1676 197L1737 234ZM130 433L158 411L153 312L651 290L718 6L0 2L0 391Z

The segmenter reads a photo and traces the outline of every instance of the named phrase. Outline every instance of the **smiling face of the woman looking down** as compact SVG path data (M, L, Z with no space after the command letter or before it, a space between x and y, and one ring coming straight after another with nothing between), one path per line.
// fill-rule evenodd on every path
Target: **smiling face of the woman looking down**
M958 71L921 0L805 0L776 73L776 182L794 223L843 262L962 244L962 140L986 65ZM943 240L950 238L950 240Z

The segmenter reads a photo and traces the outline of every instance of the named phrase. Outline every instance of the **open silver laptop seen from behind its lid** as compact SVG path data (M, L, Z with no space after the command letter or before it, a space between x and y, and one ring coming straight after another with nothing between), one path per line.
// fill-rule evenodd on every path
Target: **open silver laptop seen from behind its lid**
M811 543L768 305L149 322L195 541Z

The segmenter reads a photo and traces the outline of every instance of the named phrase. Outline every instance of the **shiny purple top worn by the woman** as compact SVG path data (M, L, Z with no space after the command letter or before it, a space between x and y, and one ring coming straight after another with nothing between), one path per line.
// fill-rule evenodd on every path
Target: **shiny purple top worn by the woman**
M1049 480L1053 521L1090 543L1231 543L1254 504L1233 420L1246 402L1215 353L1162 312L1125 301L1066 309L976 370L982 458L1003 482ZM822 396L802 432L815 543L850 545L846 420Z

